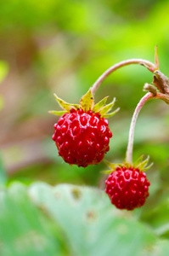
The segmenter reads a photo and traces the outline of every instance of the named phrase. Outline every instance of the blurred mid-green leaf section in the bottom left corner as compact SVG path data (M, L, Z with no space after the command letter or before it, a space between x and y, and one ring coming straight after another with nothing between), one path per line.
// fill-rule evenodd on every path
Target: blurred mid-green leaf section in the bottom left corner
M32 204L27 189L13 183L0 193L2 256L64 256L58 228Z

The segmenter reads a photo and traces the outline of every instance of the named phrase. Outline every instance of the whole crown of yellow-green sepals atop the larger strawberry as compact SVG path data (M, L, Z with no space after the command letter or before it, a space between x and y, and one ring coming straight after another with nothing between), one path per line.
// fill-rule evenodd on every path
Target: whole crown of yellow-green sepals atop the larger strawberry
M113 108L115 104L115 98L112 102L105 105L108 96L104 97L104 99L102 99L100 102L94 105L94 99L91 88L87 91L87 93L84 96L82 96L79 104L71 104L65 102L58 96L56 96L56 94L54 94L54 97L56 101L59 103L59 106L63 108L63 111L49 111L49 113L54 113L56 115L63 115L64 113L69 113L71 108L74 108L75 110L82 108L85 112L87 112L88 110L92 110L93 113L100 113L101 117L109 118L120 110L120 108L117 108L115 109L115 111L110 112L111 108Z

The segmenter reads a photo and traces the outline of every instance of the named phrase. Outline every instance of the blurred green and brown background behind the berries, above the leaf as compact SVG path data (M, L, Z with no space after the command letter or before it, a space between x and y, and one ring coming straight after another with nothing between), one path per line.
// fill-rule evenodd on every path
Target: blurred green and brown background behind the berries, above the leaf
M118 61L154 61L158 44L161 72L169 76L169 2L161 1L17 1L0 7L0 146L2 174L8 183L74 183L104 188L104 163L78 168L58 156L51 137L59 110L54 93L78 103L104 71ZM114 137L105 159L124 160L132 113L152 73L123 67L99 87L95 102L116 97L121 111L110 118ZM134 159L150 155L152 201L168 189L168 106L151 101L136 125ZM4 171L4 172L3 172ZM154 183L155 181L155 183ZM163 191L163 190L162 190ZM167 190L166 190L167 191ZM154 196L154 197L153 197Z

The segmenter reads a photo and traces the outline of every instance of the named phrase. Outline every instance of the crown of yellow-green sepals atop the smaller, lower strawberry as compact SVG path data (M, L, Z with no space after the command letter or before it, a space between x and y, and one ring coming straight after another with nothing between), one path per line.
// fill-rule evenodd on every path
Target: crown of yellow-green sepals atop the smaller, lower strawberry
M132 167L133 169L139 169L139 172L145 172L145 171L149 170L149 168L151 166L153 166L153 163L150 163L149 166L148 166L149 155L144 160L144 154L141 155L138 158L138 160L136 160L133 164L130 164L130 163L127 163L127 162L124 162L123 164L113 164L113 163L110 163L109 161L106 161L106 160L104 160L104 162L111 169L111 170L108 170L108 171L103 171L103 173L106 173L106 174L110 174L111 172L115 172L117 167L119 167L119 168L126 167L127 169Z

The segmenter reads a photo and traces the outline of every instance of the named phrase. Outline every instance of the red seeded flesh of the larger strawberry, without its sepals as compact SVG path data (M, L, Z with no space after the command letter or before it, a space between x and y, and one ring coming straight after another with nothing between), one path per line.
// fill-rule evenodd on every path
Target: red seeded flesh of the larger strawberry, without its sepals
M110 149L110 137L107 119L92 110L70 110L54 125L53 140L59 155L70 165L98 164Z

